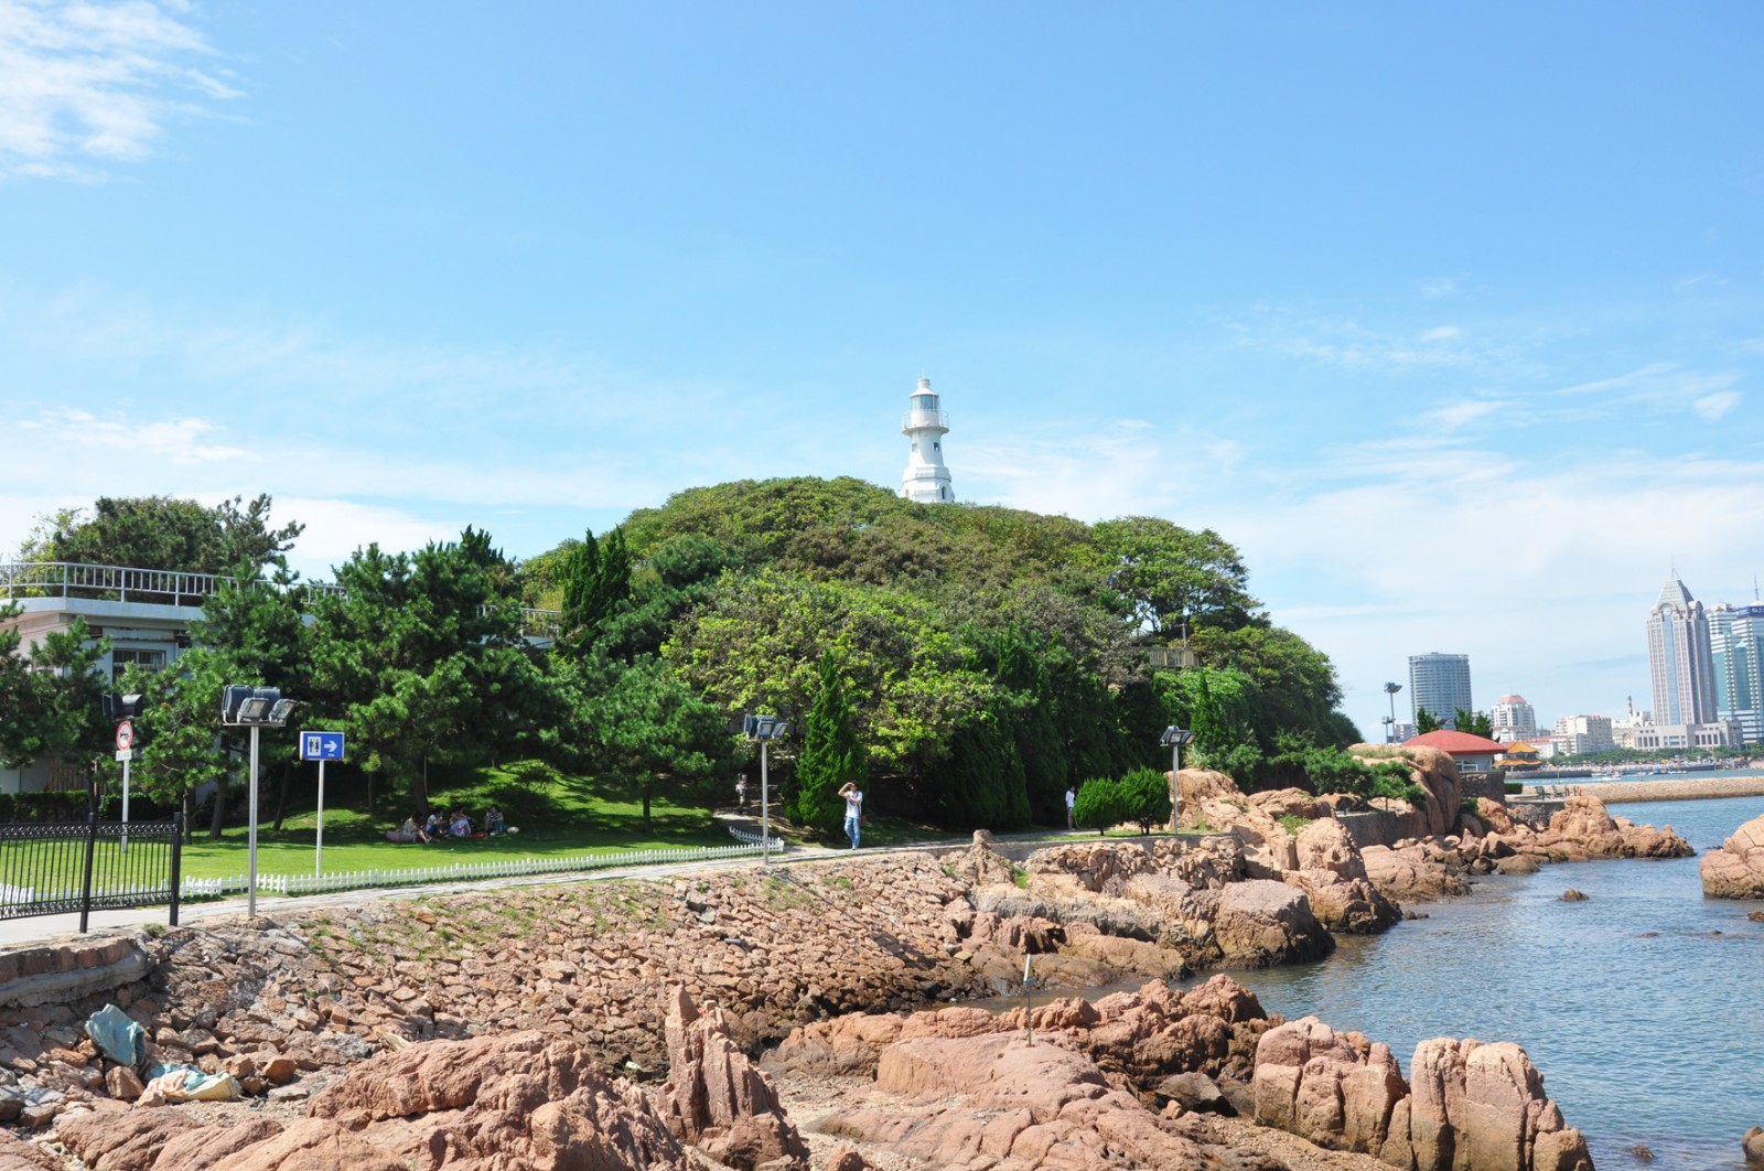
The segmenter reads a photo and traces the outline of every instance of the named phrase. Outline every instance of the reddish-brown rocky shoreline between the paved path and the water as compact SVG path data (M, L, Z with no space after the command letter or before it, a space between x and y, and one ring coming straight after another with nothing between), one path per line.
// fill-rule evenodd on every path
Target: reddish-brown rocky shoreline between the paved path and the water
M1334 931L1397 922L1394 892L1446 892L1441 876L1681 843L1588 799L1544 831L1503 825L1494 802L1443 836L1434 811L1399 809L1424 836L1362 852L1323 809L1298 825L1289 794L1233 797L1219 779L1182 776L1214 817L1237 815L1201 841L1071 839L1014 864L977 834L942 859L508 887L0 956L0 1122L21 1136L0 1139L0 1169L1307 1171L1362 1157L1445 1171L1464 1166L1454 1150L1487 1155L1471 1166L1589 1167L1517 1046L1425 1042L1411 1085L1383 1046L1284 1023L1228 977L1189 993L1168 981L1328 954ZM1429 804L1457 809L1450 795ZM1025 952L1055 995L1034 1016L926 1011L1016 991ZM55 968L86 986L9 998ZM1057 996L1124 981L1140 991ZM145 1058L226 1074L243 1099L145 1106L141 1069L83 1032L106 1003L143 1026ZM1251 1141L1244 1120L1304 1143ZM198 1122L222 1130L171 1137Z

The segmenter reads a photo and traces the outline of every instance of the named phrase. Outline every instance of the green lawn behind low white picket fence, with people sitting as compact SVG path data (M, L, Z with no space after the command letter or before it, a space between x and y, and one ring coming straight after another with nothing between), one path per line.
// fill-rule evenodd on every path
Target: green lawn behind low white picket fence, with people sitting
M309 799L288 813L280 831L270 827L273 802L273 794L258 794L258 873L312 873L318 838L314 802ZM289 802L295 804L293 794ZM480 769L452 785L430 783L429 804L439 809L459 806L475 824L482 824L483 811L496 804L508 824L520 832L397 845L386 841L386 831L397 829L411 813L406 804L393 806L381 799L379 809L372 815L358 804L326 804L325 873L727 847L734 841L702 806L674 802L656 794L649 806L649 829L644 829L642 801L628 788L534 764ZM183 873L196 878L242 875L247 857L249 841L243 825L226 827L219 841L198 829L196 841L183 847Z

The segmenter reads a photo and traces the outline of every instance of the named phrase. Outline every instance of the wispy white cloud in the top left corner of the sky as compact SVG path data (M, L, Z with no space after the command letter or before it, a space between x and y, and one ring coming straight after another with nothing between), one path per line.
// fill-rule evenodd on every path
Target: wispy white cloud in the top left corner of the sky
M0 178L102 178L238 97L182 0L0 0Z

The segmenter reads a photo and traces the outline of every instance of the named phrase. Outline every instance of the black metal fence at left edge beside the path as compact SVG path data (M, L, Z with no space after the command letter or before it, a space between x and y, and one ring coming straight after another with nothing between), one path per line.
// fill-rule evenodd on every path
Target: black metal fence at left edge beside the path
M183 815L169 822L0 825L0 919L93 910L171 906L178 924L183 884Z

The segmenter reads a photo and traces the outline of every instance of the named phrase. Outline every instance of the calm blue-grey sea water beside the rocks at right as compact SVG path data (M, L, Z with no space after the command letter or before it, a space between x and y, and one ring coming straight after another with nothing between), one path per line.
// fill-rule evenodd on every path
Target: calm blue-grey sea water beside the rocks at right
M1764 797L1611 813L1667 822L1700 854ZM1589 899L1563 903L1568 887ZM1427 1037L1519 1042L1603 1171L1743 1169L1739 1137L1764 1125L1764 924L1746 921L1760 906L1704 899L1693 857L1545 866L1484 878L1388 935L1344 936L1323 963L1231 975L1270 1012L1388 1042L1404 1072Z

